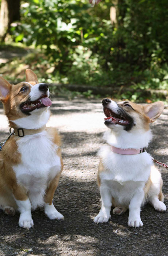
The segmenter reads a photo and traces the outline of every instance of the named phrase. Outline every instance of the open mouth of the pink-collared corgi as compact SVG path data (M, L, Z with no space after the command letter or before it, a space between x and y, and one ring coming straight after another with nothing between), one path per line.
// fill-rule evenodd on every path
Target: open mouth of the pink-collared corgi
M121 114L116 114L112 112L108 108L104 108L104 114L107 118L104 118L105 124L120 124L120 125L128 125L130 124L129 121L123 117ZM107 123L106 123L107 122Z

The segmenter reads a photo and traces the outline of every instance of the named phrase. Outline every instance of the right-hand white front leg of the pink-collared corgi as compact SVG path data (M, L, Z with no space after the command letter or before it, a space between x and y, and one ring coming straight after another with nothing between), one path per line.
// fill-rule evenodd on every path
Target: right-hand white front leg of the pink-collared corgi
M129 218L128 226L129 227L142 227L143 223L140 217L141 204L144 200L144 190L138 189L129 204Z

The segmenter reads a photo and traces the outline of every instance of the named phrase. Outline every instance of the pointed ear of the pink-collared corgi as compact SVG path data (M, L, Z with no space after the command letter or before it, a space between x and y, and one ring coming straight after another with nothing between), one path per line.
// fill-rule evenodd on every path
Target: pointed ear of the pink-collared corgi
M150 123L153 123L160 116L163 110L164 103L162 101L157 101L145 106L145 115L150 118Z

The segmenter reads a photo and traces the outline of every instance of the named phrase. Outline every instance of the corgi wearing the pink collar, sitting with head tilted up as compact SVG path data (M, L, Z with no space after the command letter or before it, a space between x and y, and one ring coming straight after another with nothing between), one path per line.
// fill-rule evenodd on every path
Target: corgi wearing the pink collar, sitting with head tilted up
M152 139L149 124L163 109L161 101L144 106L103 99L104 124L109 130L104 133L108 145L99 151L98 185L102 207L94 218L95 223L110 219L111 206L115 215L129 209L129 227L143 225L140 211L146 202L157 211L166 210L161 174L145 151Z

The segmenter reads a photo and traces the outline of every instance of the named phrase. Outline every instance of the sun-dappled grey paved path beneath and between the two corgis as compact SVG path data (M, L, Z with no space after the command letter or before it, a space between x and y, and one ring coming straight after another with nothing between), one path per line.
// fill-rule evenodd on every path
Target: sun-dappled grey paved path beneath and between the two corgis
M34 229L18 226L19 214L8 217L0 211L0 255L60 256L168 256L168 214L150 205L141 211L140 228L127 226L128 212L108 223L94 225L100 210L96 182L98 149L102 146L101 100L53 99L48 126L62 134L64 170L53 203L65 220L51 221L42 209L32 213ZM158 161L168 164L168 109L151 125L154 138L148 147ZM8 136L8 124L0 105L0 142ZM158 166L164 180L163 193L168 206L168 169Z

